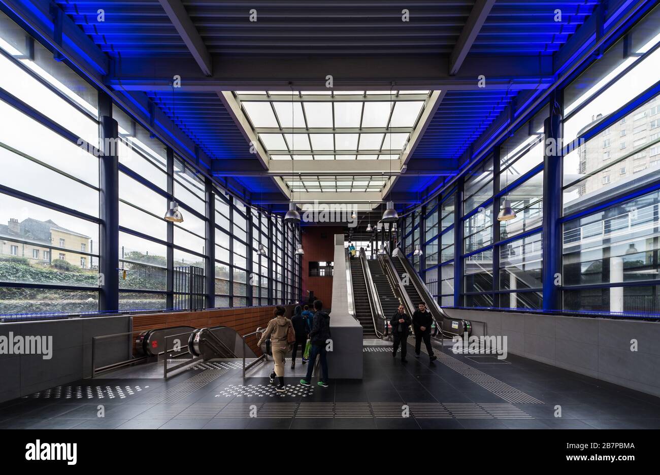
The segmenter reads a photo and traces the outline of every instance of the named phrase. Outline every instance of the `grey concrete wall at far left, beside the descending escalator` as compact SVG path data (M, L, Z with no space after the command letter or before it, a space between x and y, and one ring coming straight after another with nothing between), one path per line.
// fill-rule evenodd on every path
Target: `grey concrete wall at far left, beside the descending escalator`
M0 335L52 336L52 358L40 354L0 354L0 402L27 396L92 374L92 336L130 331L130 319L93 317L24 323L1 323ZM130 337L100 345L97 366L130 358Z

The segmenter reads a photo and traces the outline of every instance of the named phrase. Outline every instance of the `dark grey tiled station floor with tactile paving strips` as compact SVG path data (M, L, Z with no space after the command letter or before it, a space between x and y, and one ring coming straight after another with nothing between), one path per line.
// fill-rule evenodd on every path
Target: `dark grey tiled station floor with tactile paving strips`
M436 343L437 344L437 343ZM510 355L452 354L436 346L407 363L387 342L365 340L364 379L269 383L272 362L242 377L240 360L162 379L162 362L123 369L0 404L0 428L660 428L660 398ZM102 417L101 417L102 416Z

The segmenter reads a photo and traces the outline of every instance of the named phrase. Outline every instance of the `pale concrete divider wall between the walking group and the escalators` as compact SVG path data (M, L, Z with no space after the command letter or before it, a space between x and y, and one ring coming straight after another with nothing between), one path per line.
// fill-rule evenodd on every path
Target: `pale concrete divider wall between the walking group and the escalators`
M362 379L362 325L348 313L344 252L344 235L336 234L330 313L333 351L328 353L328 373L334 379Z

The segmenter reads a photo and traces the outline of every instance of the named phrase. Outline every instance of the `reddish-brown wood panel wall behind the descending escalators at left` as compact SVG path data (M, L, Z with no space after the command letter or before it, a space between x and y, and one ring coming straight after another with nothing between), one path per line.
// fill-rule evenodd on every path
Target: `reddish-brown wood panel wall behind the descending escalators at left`
M295 305L284 305L286 316L291 317ZM144 315L133 315L133 333L137 334L159 328L170 327L193 327L195 329L218 327L230 327L238 334L252 333L257 328L265 328L268 322L275 316L275 305L268 307L241 307L230 309L210 309L198 311L146 313ZM257 348L256 335L248 337L248 346L258 355L261 350Z

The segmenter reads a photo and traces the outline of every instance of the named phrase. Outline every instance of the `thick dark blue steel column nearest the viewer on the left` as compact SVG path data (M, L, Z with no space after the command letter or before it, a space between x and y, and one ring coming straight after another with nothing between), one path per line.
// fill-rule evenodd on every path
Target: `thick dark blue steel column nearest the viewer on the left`
M99 266L102 276L98 309L119 311L119 156L117 121L112 118L112 100L99 94L100 155L99 166Z

